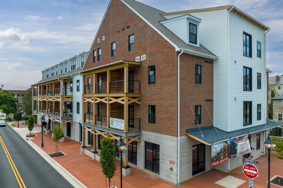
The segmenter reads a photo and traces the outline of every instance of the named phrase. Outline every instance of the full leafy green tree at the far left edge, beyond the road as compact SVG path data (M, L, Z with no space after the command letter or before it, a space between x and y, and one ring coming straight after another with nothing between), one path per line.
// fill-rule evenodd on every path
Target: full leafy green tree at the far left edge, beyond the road
M14 112L17 108L17 101L18 99L15 98L15 93L10 92L7 90L3 90L0 92L0 108L3 110L3 112L6 114L10 114L11 112ZM6 106L4 106L6 105ZM11 110L10 110L11 108Z

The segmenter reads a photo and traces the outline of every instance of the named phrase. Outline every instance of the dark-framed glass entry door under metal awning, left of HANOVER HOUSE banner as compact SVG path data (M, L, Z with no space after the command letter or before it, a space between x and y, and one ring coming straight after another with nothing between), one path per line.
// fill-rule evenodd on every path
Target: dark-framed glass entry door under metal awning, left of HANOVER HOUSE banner
M194 145L192 155L192 175L205 171L205 145Z

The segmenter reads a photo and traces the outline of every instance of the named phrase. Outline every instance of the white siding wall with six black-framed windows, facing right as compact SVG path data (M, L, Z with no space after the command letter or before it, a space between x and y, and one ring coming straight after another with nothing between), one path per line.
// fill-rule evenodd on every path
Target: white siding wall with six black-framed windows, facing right
M230 13L230 131L265 123L265 34L264 30ZM243 32L252 36L252 58L243 56ZM257 41L261 42L261 58L257 57ZM237 63L234 63L234 60ZM252 68L252 92L243 91L243 66ZM257 73L261 73L261 89L257 89ZM234 101L237 96L237 102ZM252 101L252 125L243 126L243 101ZM261 104L261 120L257 121L257 104Z

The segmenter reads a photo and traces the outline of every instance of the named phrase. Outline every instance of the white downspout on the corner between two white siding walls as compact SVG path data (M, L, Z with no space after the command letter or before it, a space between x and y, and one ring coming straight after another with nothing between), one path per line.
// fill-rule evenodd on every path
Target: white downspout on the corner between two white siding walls
M234 7L232 6L231 9L227 12L227 65L228 65L228 71L227 71L227 78L228 78L228 83L227 83L227 126L228 126L228 132L230 131L230 47L229 47L229 12L233 9Z

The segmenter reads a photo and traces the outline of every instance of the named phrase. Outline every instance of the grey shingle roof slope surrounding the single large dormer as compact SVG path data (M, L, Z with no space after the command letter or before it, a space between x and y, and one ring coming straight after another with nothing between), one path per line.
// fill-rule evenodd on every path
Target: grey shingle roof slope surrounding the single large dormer
M123 1L125 1L129 6L131 6L134 10L136 10L136 12L138 12L156 29L158 29L162 34L164 34L164 36L166 36L170 41L172 41L175 45L177 45L177 47L216 57L212 52L207 50L201 44L200 47L186 44L183 40L181 40L179 37L173 34L173 32L171 32L168 28L166 28L164 25L159 23L160 21L166 20L165 17L160 15L165 12L153 8L151 6L144 5L134 0L123 0Z

